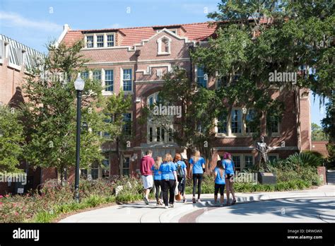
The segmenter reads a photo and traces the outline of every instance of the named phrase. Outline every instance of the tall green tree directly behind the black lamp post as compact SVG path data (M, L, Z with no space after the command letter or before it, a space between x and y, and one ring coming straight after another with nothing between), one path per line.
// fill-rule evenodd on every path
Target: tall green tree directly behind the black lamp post
M49 56L36 61L23 86L28 103L23 105L25 158L30 165L54 167L61 173L75 165L76 90L74 81L87 62L81 42L72 47L49 45ZM101 162L103 115L95 109L103 103L100 81L86 79L82 97L81 168Z

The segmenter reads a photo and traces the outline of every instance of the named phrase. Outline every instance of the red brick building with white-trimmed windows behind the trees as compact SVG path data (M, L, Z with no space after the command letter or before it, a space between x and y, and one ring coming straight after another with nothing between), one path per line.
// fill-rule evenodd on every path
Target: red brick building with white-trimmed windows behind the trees
M129 113L124 115L125 120L131 121L129 131L134 139L131 146L122 151L121 160L117 161L114 146L102 146L106 156L104 163L109 165L111 175L135 175L139 171L141 156L147 149L153 150L153 156L173 155L181 151L180 146L159 125L138 123L141 108L155 102L163 83L163 74L175 65L186 69L199 86L211 89L219 86L216 78L206 80L204 71L192 64L189 58L189 48L205 44L215 30L215 26L209 27L208 23L101 30L71 30L69 25L64 25L58 43L72 45L78 40L85 42L81 53L90 60L87 66L91 70L85 76L101 80L102 86L105 86L103 95L124 90L134 102ZM281 123L273 122L271 139L266 138L271 146L271 159L286 158L295 151L312 148L310 102L303 92L273 91L274 98L285 102L286 112ZM216 144L211 150L212 168L218 156L225 151L233 153L237 169L242 170L255 163L254 140L245 124L245 119L252 117L252 109L246 114L244 111L239 107L233 108L225 129L216 127ZM262 118L263 129L266 129L265 124L266 119ZM93 177L102 177L102 169L98 165L87 171Z

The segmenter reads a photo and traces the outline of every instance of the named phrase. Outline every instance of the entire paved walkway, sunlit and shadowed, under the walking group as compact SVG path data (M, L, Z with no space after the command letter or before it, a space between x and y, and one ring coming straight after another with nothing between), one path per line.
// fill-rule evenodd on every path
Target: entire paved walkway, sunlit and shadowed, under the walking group
M310 214L305 212L312 211L321 206L320 211L324 216L324 221L334 222L334 199L335 185L325 185L317 189L296 191L296 192L255 192L255 193L237 193L237 204L234 206L216 207L213 204L213 194L202 194L201 203L192 204L192 195L187 195L187 203L177 202L175 208L164 209L163 206L155 206L151 201L149 205L144 202L134 204L123 204L108 206L102 209L95 209L64 218L60 223L173 223L173 222L228 222L220 221L219 218L237 218L235 222L255 222L250 221L251 214L261 214L259 222L264 222L266 216L271 213L284 213L283 221L287 221L294 211L296 222L305 222L303 218L309 217ZM305 198L305 199L300 199ZM274 201L276 199L276 201ZM269 201L271 200L271 201ZM262 201L262 202L249 202ZM263 202L264 201L264 202ZM300 204L297 205L297 204ZM304 206L302 206L302 204ZM288 206L290 205L290 206ZM322 210L322 206L327 206ZM258 210L257 210L258 208ZM251 209L251 210L250 210ZM271 210L272 209L272 210ZM286 210L285 210L286 209ZM252 213L247 213L252 211ZM217 214L216 214L217 213ZM312 212L311 212L312 213ZM213 219L215 218L215 219ZM216 219L218 218L218 219ZM248 220L246 221L246 218ZM299 219L300 218L300 219ZM256 219L257 221L257 219ZM269 222L269 221L266 221ZM314 221L316 222L316 221ZM318 222L322 222L321 218Z

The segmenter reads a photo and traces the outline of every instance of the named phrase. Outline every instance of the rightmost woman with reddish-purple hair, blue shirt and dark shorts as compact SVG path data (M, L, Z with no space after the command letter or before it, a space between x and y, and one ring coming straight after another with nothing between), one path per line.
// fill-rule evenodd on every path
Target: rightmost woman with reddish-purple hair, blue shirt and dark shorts
M222 161L223 168L225 168L225 187L226 187L226 194L227 194L227 205L230 205L229 194L233 195L233 202L232 205L236 203L236 197L234 192L234 172L235 172L235 164L232 160L232 156L230 153L226 152L223 155Z

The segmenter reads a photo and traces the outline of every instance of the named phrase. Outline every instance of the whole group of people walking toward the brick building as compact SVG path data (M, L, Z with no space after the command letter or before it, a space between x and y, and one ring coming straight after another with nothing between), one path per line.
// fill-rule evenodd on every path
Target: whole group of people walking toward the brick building
M201 157L199 151L196 151L194 156L188 161L189 175L187 175L187 165L182 160L180 153L176 153L174 158L172 158L170 153L167 153L164 158L157 156L155 160L153 160L152 154L153 152L148 150L146 151L146 156L141 158L140 171L144 188L143 201L146 204L149 204L149 193L153 186L155 186L155 199L158 206L164 205L165 209L173 208L175 204L175 189L177 189L176 197L186 203L185 186L187 177L192 177L193 180L192 202L194 204L201 202L201 183L204 177L205 160ZM233 188L235 165L230 153L225 153L223 160L217 161L216 168L213 171L215 174L215 204L217 204L218 192L220 192L220 206L223 206L224 189L226 189L227 194L227 205L230 205L230 193L233 195L231 204L235 204L236 198Z

